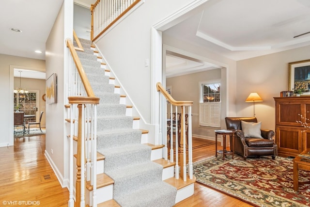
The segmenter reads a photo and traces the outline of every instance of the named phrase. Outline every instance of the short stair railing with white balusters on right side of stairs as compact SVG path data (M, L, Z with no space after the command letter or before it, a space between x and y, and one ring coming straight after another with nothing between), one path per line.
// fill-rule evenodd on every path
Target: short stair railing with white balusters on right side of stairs
M173 162L173 155L174 155L174 148L175 148L175 178L180 177L183 178L184 181L186 181L186 165L188 166L187 173L189 179L193 179L193 151L192 151L192 120L191 120L191 108L193 105L193 101L176 101L172 98L172 96L163 88L160 82L157 82L156 84L157 91L160 92L160 103L167 102L170 105L170 161ZM162 101L164 100L164 102ZM165 160L168 159L168 147L167 147L167 116L162 117L161 114L165 113L163 111L166 111L166 107L161 107L162 105L160 104L160 117L159 117L159 131L162 133L162 139L163 143L165 145L164 147L164 158ZM174 109L173 109L174 107ZM178 123L178 108L181 108L181 118L180 121L181 123ZM186 108L187 108L187 133L186 133ZM175 118L175 123L174 120L172 120L173 113L175 112L176 118ZM180 154L178 150L178 124L181 126L181 132L180 132ZM175 142L173 142L173 125L175 126ZM163 127L164 126L164 127ZM188 149L188 159L186 158L186 134L187 135L187 149ZM175 143L173 145L173 143ZM188 163L186 163L186 160L188 160ZM179 172L179 167L180 167L180 172Z

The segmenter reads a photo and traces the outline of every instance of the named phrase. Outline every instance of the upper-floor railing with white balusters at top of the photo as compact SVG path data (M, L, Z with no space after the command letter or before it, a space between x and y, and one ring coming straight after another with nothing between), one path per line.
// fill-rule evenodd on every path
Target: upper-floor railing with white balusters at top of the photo
M140 0L97 0L91 6L91 40L95 41Z

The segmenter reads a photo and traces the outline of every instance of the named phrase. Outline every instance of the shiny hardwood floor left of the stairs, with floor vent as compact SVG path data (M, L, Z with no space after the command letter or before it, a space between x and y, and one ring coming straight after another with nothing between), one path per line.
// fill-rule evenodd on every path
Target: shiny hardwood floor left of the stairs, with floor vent
M0 206L67 207L62 188L44 155L45 135L15 138L0 147Z

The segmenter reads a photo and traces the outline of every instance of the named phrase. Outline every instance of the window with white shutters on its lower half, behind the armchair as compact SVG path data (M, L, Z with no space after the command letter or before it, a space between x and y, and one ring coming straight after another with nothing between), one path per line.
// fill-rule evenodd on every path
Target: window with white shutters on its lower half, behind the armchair
M220 127L221 93L220 80L200 82L199 125Z

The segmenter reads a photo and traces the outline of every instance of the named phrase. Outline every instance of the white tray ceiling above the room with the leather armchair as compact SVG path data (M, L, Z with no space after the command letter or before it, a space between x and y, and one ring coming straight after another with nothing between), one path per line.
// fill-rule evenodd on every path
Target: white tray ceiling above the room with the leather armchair
M164 33L233 60L310 45L310 0L209 0Z

